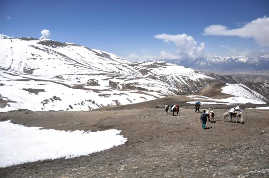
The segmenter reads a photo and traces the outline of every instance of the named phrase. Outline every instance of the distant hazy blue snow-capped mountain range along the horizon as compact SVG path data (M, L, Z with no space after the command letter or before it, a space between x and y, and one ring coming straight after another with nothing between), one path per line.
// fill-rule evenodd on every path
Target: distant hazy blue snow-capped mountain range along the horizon
M168 59L169 63L212 72L269 70L269 56L205 57L198 59Z

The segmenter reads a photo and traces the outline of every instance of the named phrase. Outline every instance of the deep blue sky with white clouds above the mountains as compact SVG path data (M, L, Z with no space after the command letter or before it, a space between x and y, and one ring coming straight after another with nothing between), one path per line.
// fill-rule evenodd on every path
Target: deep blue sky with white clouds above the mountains
M47 29L52 40L129 59L269 54L268 17L268 0L0 1L2 34Z

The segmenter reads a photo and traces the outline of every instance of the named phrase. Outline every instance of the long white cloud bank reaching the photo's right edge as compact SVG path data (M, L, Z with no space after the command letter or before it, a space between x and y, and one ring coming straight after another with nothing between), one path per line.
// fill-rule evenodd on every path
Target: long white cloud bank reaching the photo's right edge
M203 35L237 36L254 38L262 46L269 46L269 18L263 17L245 24L241 28L229 29L224 25L209 25Z

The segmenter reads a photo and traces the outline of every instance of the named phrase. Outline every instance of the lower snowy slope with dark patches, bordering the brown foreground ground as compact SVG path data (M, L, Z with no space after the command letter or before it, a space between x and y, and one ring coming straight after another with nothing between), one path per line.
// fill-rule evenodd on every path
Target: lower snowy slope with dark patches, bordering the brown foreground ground
M76 81L23 74L0 67L0 112L29 109L89 110L108 105L129 104L161 97L153 91L117 90L89 86Z

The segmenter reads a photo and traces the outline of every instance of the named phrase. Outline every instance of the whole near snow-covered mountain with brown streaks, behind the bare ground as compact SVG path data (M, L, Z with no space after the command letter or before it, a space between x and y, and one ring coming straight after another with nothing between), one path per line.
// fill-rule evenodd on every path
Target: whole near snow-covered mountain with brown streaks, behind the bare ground
M74 43L4 35L0 80L0 111L89 110L235 83L163 61L132 62Z

